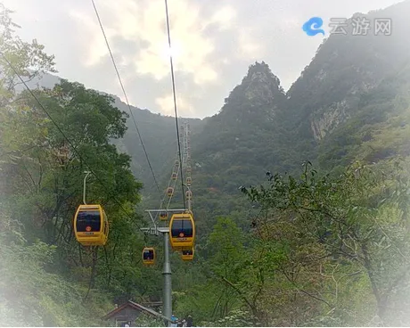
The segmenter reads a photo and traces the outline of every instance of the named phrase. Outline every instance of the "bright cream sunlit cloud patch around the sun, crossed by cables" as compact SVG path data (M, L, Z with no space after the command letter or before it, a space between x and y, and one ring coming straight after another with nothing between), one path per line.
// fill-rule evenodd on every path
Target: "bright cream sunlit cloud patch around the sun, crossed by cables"
M97 4L102 24L110 44L114 37L129 43L140 43L133 54L119 53L117 61L140 75L157 80L169 75L169 50L166 34L164 3L144 0L136 4L131 0L113 3L103 0ZM234 27L235 11L230 6L215 10L210 17L200 16L200 7L189 0L175 0L168 7L174 69L190 74L193 83L201 85L217 81L217 70L209 56L215 54L216 37L207 37L206 29L226 30ZM106 45L92 12L70 12L73 20L84 30L85 66L98 65L107 55Z

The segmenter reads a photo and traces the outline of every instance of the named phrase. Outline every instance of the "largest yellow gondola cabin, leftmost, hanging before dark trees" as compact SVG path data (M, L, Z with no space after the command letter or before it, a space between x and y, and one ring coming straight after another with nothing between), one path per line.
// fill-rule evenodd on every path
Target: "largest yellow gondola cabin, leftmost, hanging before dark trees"
M101 205L80 205L74 217L74 233L84 246L103 246L107 242L109 223Z

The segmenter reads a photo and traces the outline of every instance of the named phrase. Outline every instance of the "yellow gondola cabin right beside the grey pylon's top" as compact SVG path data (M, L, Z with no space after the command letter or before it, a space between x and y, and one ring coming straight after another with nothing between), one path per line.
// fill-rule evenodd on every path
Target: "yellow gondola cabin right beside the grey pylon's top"
M174 250L190 250L195 240L192 213L174 214L169 222L169 241Z

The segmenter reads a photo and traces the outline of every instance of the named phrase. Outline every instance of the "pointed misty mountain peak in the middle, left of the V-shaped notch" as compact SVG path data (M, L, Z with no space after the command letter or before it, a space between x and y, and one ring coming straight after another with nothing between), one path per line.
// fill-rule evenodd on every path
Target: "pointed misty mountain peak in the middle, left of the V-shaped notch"
M193 136L193 159L201 187L235 193L266 170L291 168L291 148L282 128L285 94L265 62L250 66L221 111ZM214 176L215 178L212 178Z

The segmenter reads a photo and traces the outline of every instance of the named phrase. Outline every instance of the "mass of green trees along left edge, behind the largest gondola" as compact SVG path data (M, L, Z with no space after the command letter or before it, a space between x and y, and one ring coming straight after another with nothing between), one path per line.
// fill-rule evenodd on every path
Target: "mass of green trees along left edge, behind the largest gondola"
M14 35L9 13L2 15L5 58L25 80L53 70L43 45ZM1 56L0 65L0 311L21 325L101 325L108 298L135 298L143 290L135 229L142 184L130 171L129 156L111 144L124 135L127 116L111 96L62 80L52 90L33 91L52 121L31 94L16 92L19 81ZM111 224L109 242L98 250L79 245L72 230L86 164L95 173L87 201L102 203Z

